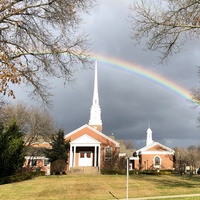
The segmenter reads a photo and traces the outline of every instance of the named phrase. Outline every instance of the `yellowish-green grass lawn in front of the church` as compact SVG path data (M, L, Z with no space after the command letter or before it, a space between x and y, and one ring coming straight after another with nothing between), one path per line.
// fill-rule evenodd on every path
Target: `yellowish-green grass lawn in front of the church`
M129 198L195 193L200 193L200 176L133 175L129 177ZM126 176L123 175L43 176L24 182L0 185L1 200L123 198L126 198ZM200 197L181 199L197 200Z

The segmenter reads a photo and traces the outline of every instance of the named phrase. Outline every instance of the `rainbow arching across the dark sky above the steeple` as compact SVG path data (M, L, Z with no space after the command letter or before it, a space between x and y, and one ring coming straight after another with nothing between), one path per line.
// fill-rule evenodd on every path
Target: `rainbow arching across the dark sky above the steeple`
M92 54L91 59L97 60L99 62L103 62L106 64L109 64L111 66L117 67L118 69L125 70L131 73L134 73L136 75L139 75L145 79L149 79L164 88L167 88L168 90L176 93L177 95L189 100L193 101L191 96L191 91L181 87L180 85L176 84L175 82L156 74L155 72L152 72L148 69L145 69L144 67L141 67L137 64L127 62L125 60L121 60L115 57L100 55L100 54ZM197 104L197 102L194 102Z

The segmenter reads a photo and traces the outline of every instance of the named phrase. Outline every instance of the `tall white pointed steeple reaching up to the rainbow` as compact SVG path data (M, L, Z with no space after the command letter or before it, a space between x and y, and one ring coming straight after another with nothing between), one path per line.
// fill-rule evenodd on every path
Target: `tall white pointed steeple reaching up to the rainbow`
M99 106L97 61L95 61L94 93L90 108L89 125L102 132L101 108Z

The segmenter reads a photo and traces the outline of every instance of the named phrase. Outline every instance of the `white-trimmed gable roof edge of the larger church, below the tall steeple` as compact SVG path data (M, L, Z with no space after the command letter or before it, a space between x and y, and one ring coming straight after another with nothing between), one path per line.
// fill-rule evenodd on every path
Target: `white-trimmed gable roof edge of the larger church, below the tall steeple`
M64 138L68 138L70 137L71 135L77 133L78 131L84 129L84 128L88 128L90 129L91 131L95 132L96 134L100 135L101 137L104 137L105 139L109 140L110 142L114 143L117 147L119 147L119 142L117 142L116 140L113 140L112 138L108 137L107 135L105 135L104 133L98 131L97 129L93 128L92 126L88 125L88 124L85 124L79 128L77 128L76 130L66 134L64 136Z

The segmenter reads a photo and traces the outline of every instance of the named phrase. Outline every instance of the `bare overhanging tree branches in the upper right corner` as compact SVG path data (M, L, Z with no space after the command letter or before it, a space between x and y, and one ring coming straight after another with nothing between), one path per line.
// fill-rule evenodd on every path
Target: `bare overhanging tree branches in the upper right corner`
M132 38L147 39L147 49L160 50L161 58L180 51L200 35L199 0L139 0L131 5Z

